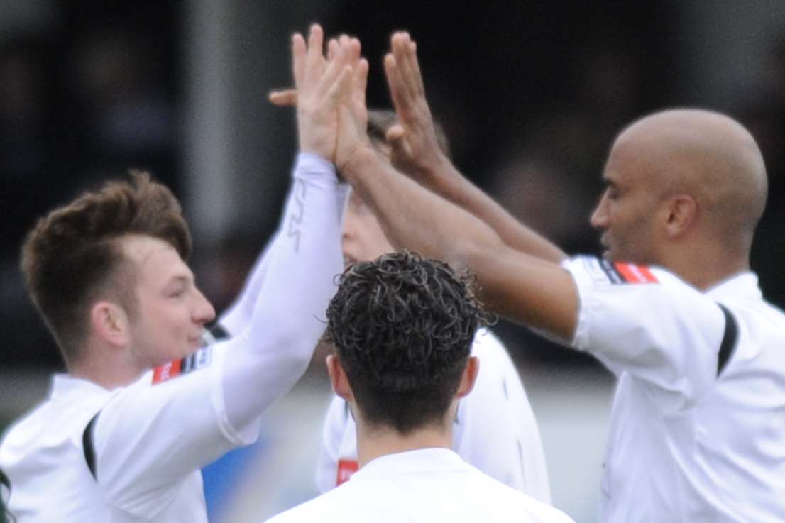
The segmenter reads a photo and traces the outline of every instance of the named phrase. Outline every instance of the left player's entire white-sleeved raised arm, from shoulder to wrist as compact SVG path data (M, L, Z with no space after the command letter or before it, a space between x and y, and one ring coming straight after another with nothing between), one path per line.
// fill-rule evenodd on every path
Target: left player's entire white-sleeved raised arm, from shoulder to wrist
M155 514L178 479L253 442L261 412L305 371L342 267L337 184L330 163L298 155L283 228L265 256L268 277L243 331L156 368L99 412L95 475L116 506Z

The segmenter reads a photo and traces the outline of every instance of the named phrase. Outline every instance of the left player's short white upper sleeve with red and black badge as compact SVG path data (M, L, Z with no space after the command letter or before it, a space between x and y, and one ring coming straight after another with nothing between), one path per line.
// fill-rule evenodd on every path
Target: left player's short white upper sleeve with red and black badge
M88 426L92 442L85 442L86 452L94 452L93 474L113 507L155 518L184 477L255 441L256 425L238 431L228 422L221 383L224 349L199 349L115 390L94 418L92 432Z

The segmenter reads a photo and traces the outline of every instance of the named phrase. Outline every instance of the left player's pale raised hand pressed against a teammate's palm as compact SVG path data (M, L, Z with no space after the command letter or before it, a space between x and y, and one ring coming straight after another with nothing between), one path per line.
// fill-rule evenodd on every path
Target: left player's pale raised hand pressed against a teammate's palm
M311 152L335 162L338 141L338 104L341 93L352 81L352 60L360 53L360 42L330 40L323 55L323 31L311 27L308 44L302 35L292 37L292 69L298 90L297 121L301 152ZM356 50L354 49L356 46Z

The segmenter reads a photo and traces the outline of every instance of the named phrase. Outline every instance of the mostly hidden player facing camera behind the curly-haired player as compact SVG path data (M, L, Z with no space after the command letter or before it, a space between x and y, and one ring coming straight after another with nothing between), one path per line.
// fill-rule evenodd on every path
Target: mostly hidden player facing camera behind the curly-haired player
M370 109L368 133L374 147L398 157L386 146L385 134L396 125L392 111ZM448 153L447 137L436 126L440 148ZM344 206L341 248L345 263L369 262L395 251L378 220L356 192ZM458 405L452 448L467 463L505 485L551 503L550 482L540 431L524 383L495 334L480 328L471 354L480 360L473 392ZM316 467L320 493L341 485L357 470L356 426L345 400L334 396L325 416Z

